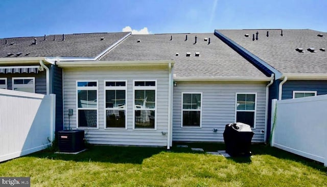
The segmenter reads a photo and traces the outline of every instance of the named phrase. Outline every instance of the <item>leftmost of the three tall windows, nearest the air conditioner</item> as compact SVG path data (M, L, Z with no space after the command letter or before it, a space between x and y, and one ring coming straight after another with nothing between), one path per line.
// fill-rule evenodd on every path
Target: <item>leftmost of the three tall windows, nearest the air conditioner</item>
M77 127L98 127L98 81L77 81Z

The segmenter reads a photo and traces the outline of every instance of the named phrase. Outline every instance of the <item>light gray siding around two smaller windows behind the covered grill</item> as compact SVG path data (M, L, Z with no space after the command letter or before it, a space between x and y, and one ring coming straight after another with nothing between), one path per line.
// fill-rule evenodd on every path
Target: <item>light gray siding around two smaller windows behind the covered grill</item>
M202 127L181 128L181 93L202 92ZM266 83L177 82L173 97L173 141L224 142L225 125L235 122L237 92L256 92L256 124L252 142L264 142ZM218 131L214 132L213 129Z

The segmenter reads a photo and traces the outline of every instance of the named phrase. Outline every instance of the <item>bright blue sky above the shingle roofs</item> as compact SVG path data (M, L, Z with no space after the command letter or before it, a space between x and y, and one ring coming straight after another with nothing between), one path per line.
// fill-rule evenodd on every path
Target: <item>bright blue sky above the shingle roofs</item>
M215 29L327 32L326 0L1 0L0 38L92 32Z

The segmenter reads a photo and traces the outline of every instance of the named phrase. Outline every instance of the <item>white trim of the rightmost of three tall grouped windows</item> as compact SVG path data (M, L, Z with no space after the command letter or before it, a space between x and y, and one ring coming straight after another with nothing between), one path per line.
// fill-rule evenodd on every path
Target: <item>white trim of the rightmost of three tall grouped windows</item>
M155 86L135 86L135 82L138 81L146 81L146 82L155 82ZM154 110L154 129L150 128L135 128L135 90L155 90L155 107L151 108L149 110ZM139 80L133 80L133 130L147 130L147 131L155 131L157 130L157 80L156 79L139 79Z

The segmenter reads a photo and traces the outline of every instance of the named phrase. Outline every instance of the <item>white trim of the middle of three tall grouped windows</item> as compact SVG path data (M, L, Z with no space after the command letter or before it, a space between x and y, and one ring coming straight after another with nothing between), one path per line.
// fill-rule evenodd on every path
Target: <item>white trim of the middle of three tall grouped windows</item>
M125 86L106 86L106 82L125 82ZM104 107L104 129L106 130L127 130L127 80L104 80L103 81L104 89L103 89L103 107ZM106 90L125 90L125 128L121 127L109 127L107 128L107 109L111 110L122 110L122 109L113 109L113 108L106 108Z

